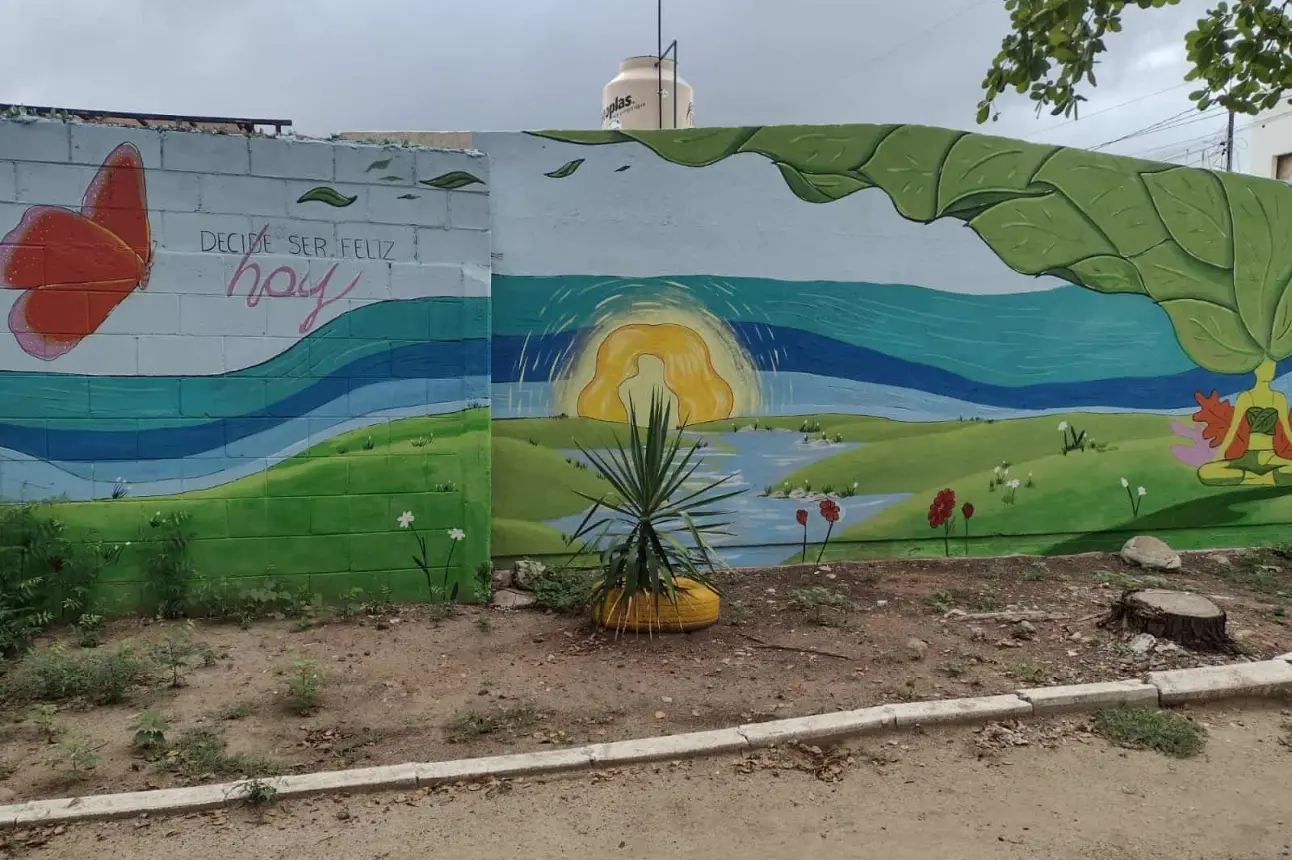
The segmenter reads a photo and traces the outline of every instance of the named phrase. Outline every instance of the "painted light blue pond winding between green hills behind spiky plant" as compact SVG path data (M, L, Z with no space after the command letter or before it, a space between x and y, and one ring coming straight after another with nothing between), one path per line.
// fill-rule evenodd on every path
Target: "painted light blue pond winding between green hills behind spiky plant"
M804 436L788 431L698 433L689 434L707 439L711 445L703 451L700 467L690 484L699 487L717 478L730 475L724 488L744 492L722 504L731 511L730 535L712 542L722 558L733 567L766 567L780 564L795 554L802 544L802 528L795 520L795 511L804 507L810 514L808 541L819 542L826 537L826 520L817 513L815 498L776 498L764 496L765 487L780 487L793 471L844 451L859 448L858 443L804 443ZM718 445L726 449L718 449ZM585 460L579 452L566 452L575 460ZM885 507L907 497L907 493L853 496L840 498L840 522L835 524L837 536L849 526L873 517ZM583 522L583 513L550 520L548 524L562 533L572 533Z

